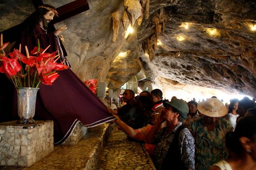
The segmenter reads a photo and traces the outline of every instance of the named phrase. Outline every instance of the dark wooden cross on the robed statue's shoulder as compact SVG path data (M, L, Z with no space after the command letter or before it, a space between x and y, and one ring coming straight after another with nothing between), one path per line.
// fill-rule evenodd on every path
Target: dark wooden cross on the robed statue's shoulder
M42 0L32 0L32 3L36 9L39 7L39 5L43 4ZM59 21L75 16L89 9L90 8L87 0L75 0L73 2L67 3L57 8L56 10L59 13L59 17L54 18L52 22L55 24ZM1 34L3 34L4 43L5 42L12 43L16 41L21 31L22 31L22 23L2 31Z

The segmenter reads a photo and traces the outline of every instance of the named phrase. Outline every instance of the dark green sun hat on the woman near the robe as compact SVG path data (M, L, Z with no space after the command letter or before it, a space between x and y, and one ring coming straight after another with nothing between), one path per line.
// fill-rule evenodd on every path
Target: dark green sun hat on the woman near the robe
M163 105L164 106L170 105L174 107L182 118L187 119L189 110L188 110L188 104L186 102L180 99L175 99L175 100L172 100L171 102L164 102Z

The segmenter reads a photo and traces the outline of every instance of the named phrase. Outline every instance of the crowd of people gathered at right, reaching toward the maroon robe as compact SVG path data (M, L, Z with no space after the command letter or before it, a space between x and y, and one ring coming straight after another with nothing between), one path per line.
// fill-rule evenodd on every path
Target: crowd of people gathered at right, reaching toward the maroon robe
M128 106L108 110L128 138L145 143L157 170L256 170L255 101L224 105L215 96L197 103L162 95L154 89L135 98L125 90Z

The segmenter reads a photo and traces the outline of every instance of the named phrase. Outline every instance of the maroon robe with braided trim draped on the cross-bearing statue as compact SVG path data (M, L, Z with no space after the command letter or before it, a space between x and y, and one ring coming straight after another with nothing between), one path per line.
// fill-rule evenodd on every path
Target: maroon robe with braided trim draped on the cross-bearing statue
M22 53L25 53L25 45L29 51L32 51L34 47L38 46L38 39L40 48L42 49L45 49L51 44L46 52L52 53L59 49L57 37L54 35L54 32L46 34L38 24L33 34L32 36L22 34L20 42L16 42L16 47L21 43ZM62 46L62 44L60 45ZM65 55L66 52L63 46L62 51ZM94 127L115 119L106 111L107 107L70 68L58 71L58 73L59 78L53 85L40 85L34 117L36 120L54 120L55 144L65 141L79 121L86 127ZM0 79L1 81L3 80L1 76ZM0 85L3 88L7 88L7 86L9 89L13 89L13 87L10 87L9 82ZM10 90L9 92L11 93L12 91ZM0 106L4 105L4 102L10 105L10 99L8 101L3 99L6 98L6 94L6 91L0 92ZM5 97L3 97L4 95ZM13 117L11 119L17 119L18 115L16 92L14 92L14 96L12 111L11 108L6 108L7 105L2 109L4 110L4 114L12 112ZM10 120L10 115L4 118L5 120Z

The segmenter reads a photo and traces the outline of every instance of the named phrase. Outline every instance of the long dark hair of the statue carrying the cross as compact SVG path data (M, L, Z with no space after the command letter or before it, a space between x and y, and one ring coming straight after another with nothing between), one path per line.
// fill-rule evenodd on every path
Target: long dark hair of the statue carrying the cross
M41 6L45 6L47 8L51 8L53 10L56 10L54 6L49 4L42 4ZM27 17L24 22L23 26L26 29L25 34L31 35L33 34L33 30L36 27L36 25L42 20L43 16L48 12L49 10L46 8L38 8L34 13L32 13L29 17Z

